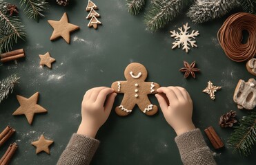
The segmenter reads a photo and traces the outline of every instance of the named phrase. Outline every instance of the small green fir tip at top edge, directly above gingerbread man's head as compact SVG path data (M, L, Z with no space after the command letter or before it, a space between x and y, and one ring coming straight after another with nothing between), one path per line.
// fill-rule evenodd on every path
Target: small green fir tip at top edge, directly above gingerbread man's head
M126 0L126 5L128 6L128 12L130 12L130 14L137 15L144 7L145 0Z

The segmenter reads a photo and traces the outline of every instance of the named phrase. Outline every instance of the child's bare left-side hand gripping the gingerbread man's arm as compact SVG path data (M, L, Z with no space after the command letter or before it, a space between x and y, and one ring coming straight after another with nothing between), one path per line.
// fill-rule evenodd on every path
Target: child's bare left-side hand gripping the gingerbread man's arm
M117 96L113 92L114 90L108 87L96 87L86 91L81 104L82 121L77 133L95 137L99 128L108 119L115 96Z

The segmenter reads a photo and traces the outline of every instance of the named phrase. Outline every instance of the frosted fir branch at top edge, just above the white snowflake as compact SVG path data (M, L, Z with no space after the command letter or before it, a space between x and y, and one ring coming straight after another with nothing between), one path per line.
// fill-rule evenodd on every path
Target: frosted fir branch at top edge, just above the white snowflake
M190 6L187 16L193 23L204 23L222 17L238 6L237 0L197 0Z

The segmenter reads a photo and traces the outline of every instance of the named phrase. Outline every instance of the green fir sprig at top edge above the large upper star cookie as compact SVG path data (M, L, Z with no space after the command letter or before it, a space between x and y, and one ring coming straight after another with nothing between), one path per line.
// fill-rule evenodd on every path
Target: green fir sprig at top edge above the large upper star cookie
M24 6L24 12L30 19L39 21L39 17L44 17L43 11L48 9L46 0L20 0L21 6Z

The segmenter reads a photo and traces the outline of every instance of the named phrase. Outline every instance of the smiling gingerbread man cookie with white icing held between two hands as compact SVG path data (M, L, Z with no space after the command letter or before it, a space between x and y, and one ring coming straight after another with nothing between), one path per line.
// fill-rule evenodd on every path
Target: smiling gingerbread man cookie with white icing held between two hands
M115 109L116 113L122 116L128 115L135 104L146 115L157 113L158 108L151 104L148 94L157 94L159 84L145 82L148 76L146 67L140 63L130 63L124 71L124 76L127 81L116 81L111 85L117 94L124 94L121 105Z

